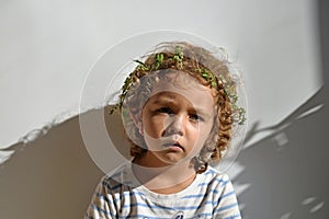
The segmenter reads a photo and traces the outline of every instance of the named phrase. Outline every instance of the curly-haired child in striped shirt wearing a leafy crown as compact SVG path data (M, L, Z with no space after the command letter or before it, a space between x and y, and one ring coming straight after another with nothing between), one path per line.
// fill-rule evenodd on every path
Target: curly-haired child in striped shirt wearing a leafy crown
M102 178L86 218L241 218L228 176L208 165L245 122L228 61L177 42L145 59L111 111L133 160Z

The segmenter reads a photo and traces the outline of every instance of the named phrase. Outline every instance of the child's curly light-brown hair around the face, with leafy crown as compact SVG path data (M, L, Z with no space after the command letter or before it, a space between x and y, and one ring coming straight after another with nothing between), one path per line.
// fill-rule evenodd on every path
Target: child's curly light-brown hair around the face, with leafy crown
M198 157L193 159L197 173L207 169L211 161L220 160L229 148L232 125L245 119L241 108L236 107L236 82L229 71L229 62L198 46L185 42L170 42L159 44L156 49L143 57L139 65L126 79L121 94L120 107L123 118L138 115L148 100L155 83L169 72L180 71L195 78L201 84L211 88L216 116L213 129ZM157 73L161 71L161 74ZM138 117L138 116L137 116ZM136 123L136 120L135 120ZM128 139L132 142L131 155L141 158L147 147L136 124L125 126Z

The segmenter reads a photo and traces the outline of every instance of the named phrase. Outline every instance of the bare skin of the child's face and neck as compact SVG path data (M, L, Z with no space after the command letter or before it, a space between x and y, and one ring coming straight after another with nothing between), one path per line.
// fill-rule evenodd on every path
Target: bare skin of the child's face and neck
M174 74L154 88L141 112L140 129L148 151L135 163L151 168L139 171L139 180L148 187L156 185L154 192L170 194L195 177L191 159L198 154L212 130L214 99L209 88L186 73Z

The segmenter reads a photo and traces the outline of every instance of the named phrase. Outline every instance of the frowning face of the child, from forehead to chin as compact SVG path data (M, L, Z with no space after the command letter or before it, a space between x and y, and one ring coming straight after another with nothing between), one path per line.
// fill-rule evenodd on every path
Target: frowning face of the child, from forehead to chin
M214 124L211 89L183 72L171 78L154 87L141 112L147 158L154 166L190 161L204 146Z

